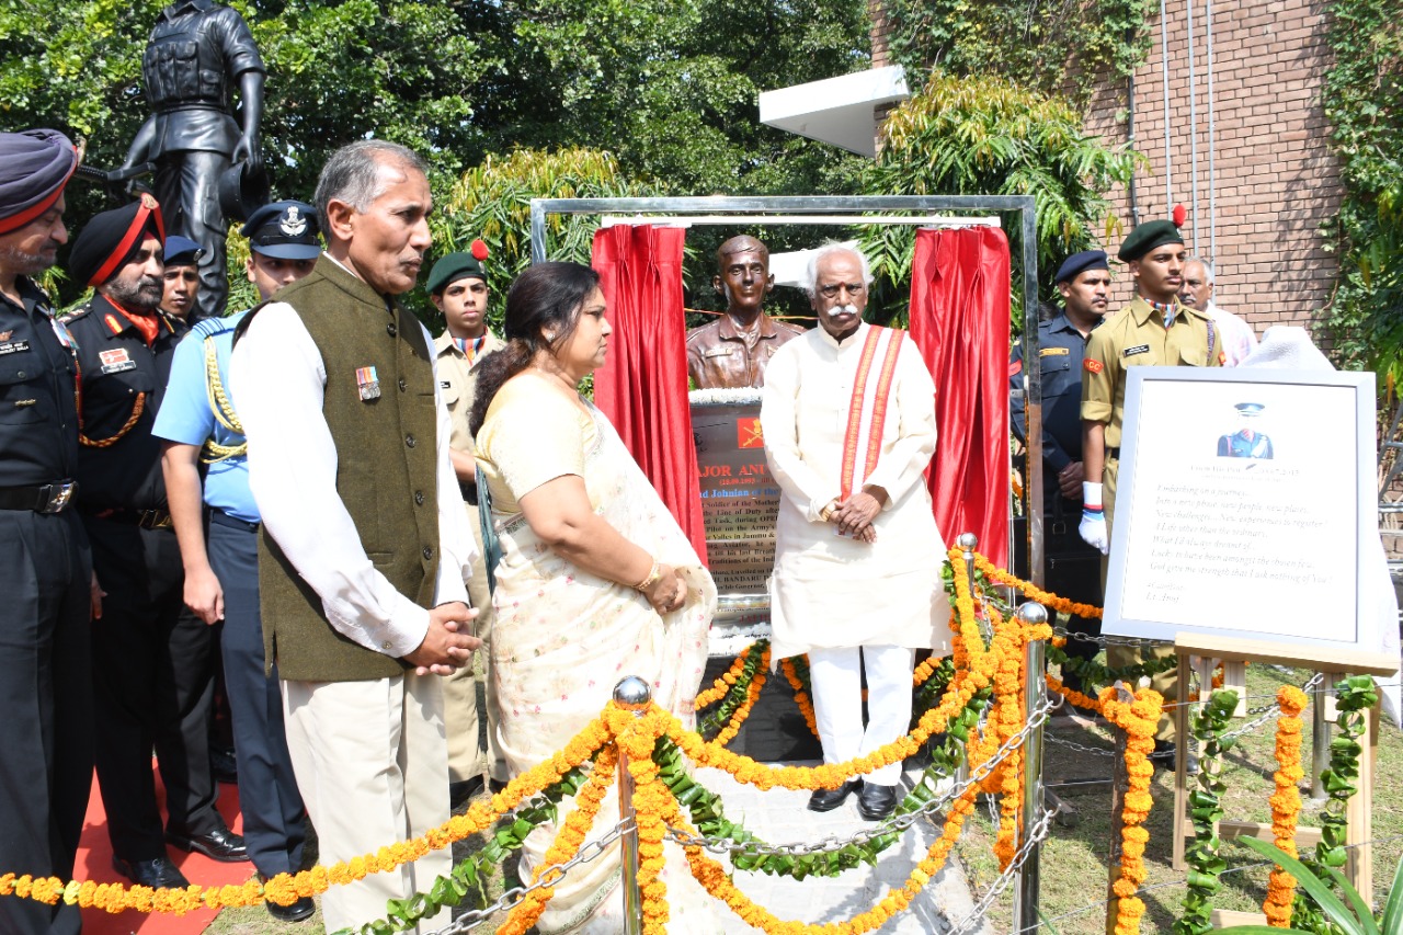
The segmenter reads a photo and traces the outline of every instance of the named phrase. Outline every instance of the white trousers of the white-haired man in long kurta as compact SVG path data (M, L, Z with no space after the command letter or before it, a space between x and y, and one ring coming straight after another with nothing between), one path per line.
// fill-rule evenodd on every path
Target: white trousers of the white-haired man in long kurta
M911 724L911 675L916 651L905 646L811 649L810 679L824 762L866 757L906 733ZM863 667L867 670L867 729L863 729ZM901 761L870 772L866 781L894 786Z

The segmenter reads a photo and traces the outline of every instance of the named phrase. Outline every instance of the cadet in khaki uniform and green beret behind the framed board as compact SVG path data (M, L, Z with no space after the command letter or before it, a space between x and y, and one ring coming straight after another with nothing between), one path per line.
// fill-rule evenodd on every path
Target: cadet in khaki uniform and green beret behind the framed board
M1115 508L1121 427L1125 418L1127 369L1131 366L1221 366L1222 340L1212 319L1179 302L1183 285L1184 239L1169 220L1139 225L1121 244L1120 258L1135 279L1136 296L1092 331L1082 368L1082 458L1086 466L1082 538L1106 555ZM1103 512L1104 508L1104 512ZM1101 577L1104 584L1106 566ZM1149 658L1173 656L1172 647L1149 650ZM1136 663L1139 653L1125 646L1107 650L1113 668ZM1155 691L1173 696L1174 674L1153 679ZM1155 751L1173 760L1173 719L1159 722Z

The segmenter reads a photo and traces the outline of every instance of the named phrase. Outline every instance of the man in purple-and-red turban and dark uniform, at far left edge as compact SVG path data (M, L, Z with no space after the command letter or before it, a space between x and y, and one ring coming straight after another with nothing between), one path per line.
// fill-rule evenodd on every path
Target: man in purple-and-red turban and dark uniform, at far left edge
M0 872L60 880L73 876L93 788L95 608L73 510L72 338L31 277L67 243L63 190L77 164L58 131L0 133ZM77 935L81 924L63 900L0 898L6 935Z

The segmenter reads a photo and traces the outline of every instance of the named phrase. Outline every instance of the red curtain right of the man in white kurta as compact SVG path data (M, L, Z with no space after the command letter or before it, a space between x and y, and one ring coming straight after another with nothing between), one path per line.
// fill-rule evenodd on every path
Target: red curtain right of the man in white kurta
M926 483L947 545L1009 562L1009 240L998 227L919 230L911 337L936 380Z

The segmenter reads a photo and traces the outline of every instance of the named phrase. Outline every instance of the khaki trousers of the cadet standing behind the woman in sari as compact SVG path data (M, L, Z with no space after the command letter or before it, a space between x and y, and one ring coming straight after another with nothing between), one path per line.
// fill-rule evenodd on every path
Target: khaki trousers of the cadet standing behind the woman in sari
M474 633L483 640L477 658L483 663L485 677L485 710L477 703L477 678L474 665L463 665L452 675L443 677L443 726L448 734L448 778L449 782L466 782L484 772L497 782L506 782L506 761L497 750L497 685L492 679L492 595L487 590L487 566L483 562L483 531L477 519L477 507L467 505L467 525L473 529L477 559L473 560L473 577L467 580L467 599L477 608ZM487 716L487 748L481 743L481 719Z

